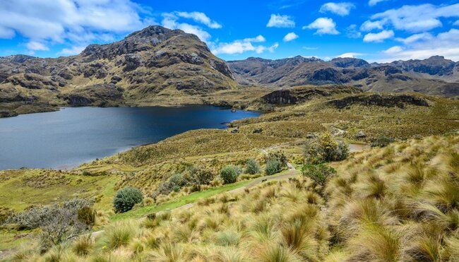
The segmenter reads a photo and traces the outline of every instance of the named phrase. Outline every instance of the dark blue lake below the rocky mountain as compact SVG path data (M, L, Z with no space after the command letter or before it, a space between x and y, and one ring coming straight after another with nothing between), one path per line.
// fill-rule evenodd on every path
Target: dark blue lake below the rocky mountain
M68 107L0 119L0 169L65 169L191 129L225 129L258 112L220 107Z

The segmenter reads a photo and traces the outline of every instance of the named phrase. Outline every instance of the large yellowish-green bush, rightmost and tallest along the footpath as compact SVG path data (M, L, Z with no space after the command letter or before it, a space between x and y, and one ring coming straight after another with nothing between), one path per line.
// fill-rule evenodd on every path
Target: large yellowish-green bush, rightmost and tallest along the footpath
M307 164L318 165L323 162L345 160L349 156L349 145L343 141L335 141L330 133L306 142L304 160Z

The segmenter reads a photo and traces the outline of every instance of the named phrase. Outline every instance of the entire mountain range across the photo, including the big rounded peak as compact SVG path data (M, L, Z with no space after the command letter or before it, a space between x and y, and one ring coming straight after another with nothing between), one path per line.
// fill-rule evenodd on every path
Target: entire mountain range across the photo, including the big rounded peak
M0 117L59 106L201 104L220 91L246 92L246 85L306 84L452 97L459 95L459 63L442 56L388 64L303 56L226 62L196 35L155 25L76 56L0 57Z

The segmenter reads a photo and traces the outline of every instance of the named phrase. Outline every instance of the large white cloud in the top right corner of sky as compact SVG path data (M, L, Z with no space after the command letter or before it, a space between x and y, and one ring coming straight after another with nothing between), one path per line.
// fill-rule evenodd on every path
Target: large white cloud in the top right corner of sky
M459 17L459 4L434 6L433 4L421 4L418 6L402 6L398 9L390 9L383 13L371 16L373 23L391 25L397 30L409 32L425 32L439 28L443 24L440 18Z

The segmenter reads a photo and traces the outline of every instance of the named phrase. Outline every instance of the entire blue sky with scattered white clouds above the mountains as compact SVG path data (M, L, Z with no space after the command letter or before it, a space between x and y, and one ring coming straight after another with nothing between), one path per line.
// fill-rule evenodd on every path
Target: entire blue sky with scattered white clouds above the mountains
M459 0L1 0L0 56L78 54L148 25L198 35L227 61L459 61Z

